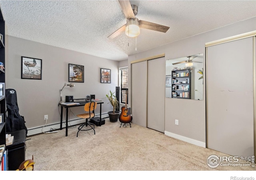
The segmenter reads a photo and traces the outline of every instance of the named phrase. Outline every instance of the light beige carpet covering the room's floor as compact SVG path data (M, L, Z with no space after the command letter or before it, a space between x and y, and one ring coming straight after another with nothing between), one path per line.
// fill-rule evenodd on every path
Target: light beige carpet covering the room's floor
M26 159L34 155L34 170L66 171L174 171L174 170L255 170L250 167L218 166L210 168L210 155L226 156L168 137L160 132L132 124L119 127L120 122L80 131L77 127L57 133L28 136Z

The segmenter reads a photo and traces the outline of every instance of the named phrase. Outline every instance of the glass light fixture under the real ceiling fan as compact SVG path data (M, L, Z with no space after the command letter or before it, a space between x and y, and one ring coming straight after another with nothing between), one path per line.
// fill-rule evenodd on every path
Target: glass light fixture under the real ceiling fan
M136 37L140 34L139 20L136 19L127 19L125 34L129 37Z

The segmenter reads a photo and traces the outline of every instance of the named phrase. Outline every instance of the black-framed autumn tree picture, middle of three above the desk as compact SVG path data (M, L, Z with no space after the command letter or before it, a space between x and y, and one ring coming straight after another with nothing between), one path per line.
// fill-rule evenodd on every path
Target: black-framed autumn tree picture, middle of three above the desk
M68 82L84 82L84 66L68 64Z

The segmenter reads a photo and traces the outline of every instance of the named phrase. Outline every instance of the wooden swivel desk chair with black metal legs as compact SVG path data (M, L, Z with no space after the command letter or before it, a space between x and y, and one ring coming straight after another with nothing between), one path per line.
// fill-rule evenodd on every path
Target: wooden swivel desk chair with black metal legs
M97 108L97 102L88 102L84 105L84 111L85 113L84 114L78 114L76 116L80 117L80 118L83 118L83 119L86 119L86 122L84 122L83 124L81 124L79 127L78 127L78 132L79 131L88 131L88 130L94 130L94 134L95 134L95 129L94 129L94 124L88 122L88 119L90 118L93 118L95 116L95 112L94 110ZM88 127L88 128L84 128L84 126ZM78 137L78 132L76 134L76 137Z

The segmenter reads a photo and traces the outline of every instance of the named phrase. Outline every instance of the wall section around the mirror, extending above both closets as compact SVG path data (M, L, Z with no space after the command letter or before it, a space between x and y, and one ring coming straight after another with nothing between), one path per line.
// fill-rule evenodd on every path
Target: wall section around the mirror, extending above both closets
M140 60L158 54L165 53L165 59L174 59L191 54L204 54L205 70L205 43L222 38L242 34L256 30L256 17L237 22L222 28L218 28L203 34L198 34L177 42L159 46L144 52L140 52L128 57L130 62ZM171 28L170 28L171 30ZM153 43L153 42L152 42ZM162 67L166 70L165 66ZM204 73L205 74L205 73ZM163 77L165 79L165 77ZM131 79L131 78L129 78ZM131 83L129 83L130 85ZM130 87L129 87L130 88ZM165 99L165 134L175 138L206 146L206 98L205 98L205 76L204 76L204 97L203 100L186 99ZM175 125L175 119L179 120L179 125Z

